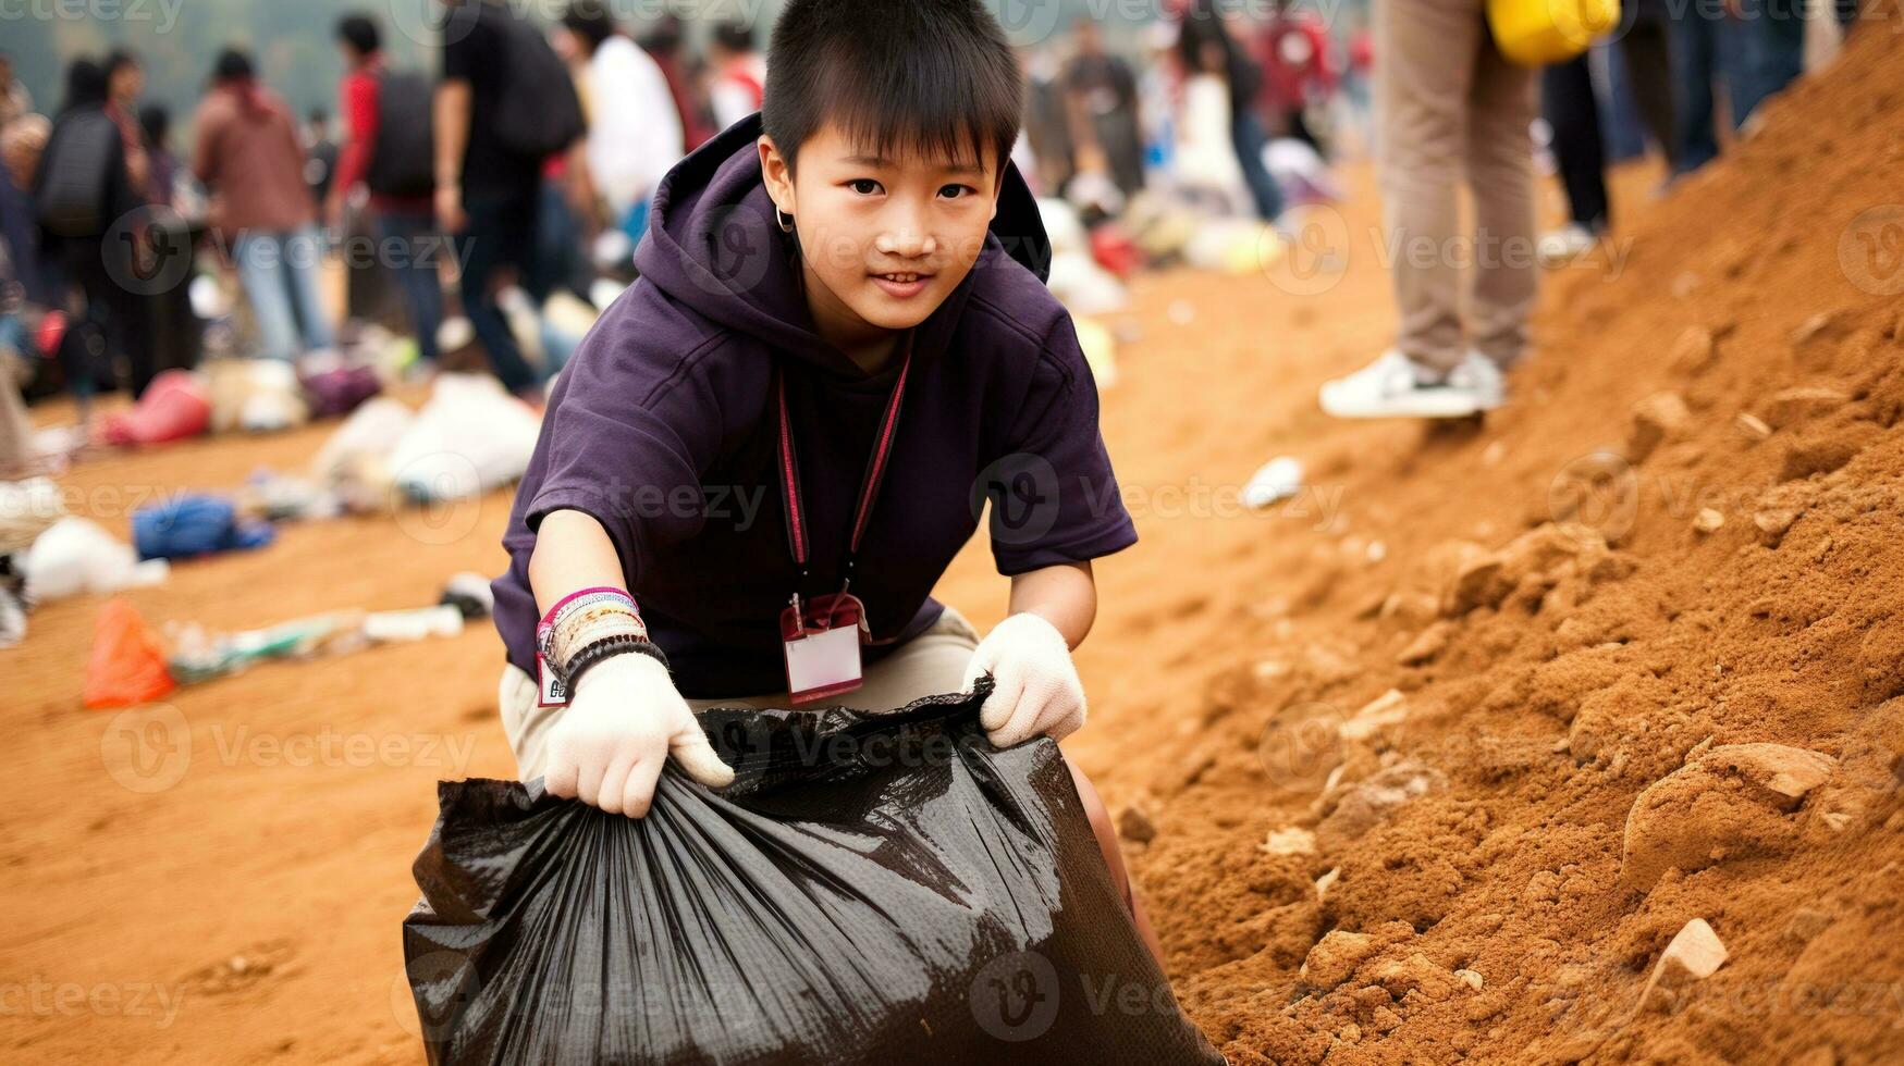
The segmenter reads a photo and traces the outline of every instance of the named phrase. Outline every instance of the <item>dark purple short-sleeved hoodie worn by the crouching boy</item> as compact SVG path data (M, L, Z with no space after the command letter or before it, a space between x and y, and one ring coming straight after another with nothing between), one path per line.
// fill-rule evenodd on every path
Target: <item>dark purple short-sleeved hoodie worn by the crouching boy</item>
M779 619L796 586L836 592L853 506L893 379L819 337L779 230L748 118L655 192L642 278L567 364L503 535L495 624L535 672L529 554L552 510L594 516L682 695L786 691ZM874 662L929 628L933 584L994 499L1003 575L1137 543L1097 428L1097 383L1043 286L1043 227L1015 168L971 274L912 337L912 377L855 567ZM773 367L786 371L811 575L788 556Z

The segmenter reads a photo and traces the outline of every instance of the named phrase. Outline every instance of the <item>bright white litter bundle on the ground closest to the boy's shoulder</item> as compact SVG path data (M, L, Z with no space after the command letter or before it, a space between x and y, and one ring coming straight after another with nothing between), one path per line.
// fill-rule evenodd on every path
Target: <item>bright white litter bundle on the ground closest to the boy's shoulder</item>
M499 489L529 468L541 419L487 375L446 373L390 451L396 487L417 503Z

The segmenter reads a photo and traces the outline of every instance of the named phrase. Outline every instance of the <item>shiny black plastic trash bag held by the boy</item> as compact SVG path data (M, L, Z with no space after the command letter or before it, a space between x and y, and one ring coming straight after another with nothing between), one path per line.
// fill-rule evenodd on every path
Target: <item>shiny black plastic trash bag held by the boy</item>
M645 819L442 782L404 961L430 1062L1217 1064L1059 746L977 693L714 710Z

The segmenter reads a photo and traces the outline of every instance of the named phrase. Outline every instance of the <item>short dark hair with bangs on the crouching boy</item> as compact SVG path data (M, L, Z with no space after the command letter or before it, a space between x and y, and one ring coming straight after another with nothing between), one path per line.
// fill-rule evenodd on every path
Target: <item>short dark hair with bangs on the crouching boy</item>
M1024 76L979 0L792 0L767 55L762 126L788 168L828 122L880 156L990 145L1000 171L1019 139Z

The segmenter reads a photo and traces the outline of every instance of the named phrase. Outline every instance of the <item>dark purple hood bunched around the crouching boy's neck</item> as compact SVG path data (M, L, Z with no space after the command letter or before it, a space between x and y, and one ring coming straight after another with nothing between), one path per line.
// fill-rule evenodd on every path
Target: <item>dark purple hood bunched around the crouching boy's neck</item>
M798 246L781 232L760 173L760 114L752 114L674 166L655 190L653 223L634 253L642 280L701 316L758 337L828 373L864 377L853 360L815 331L800 295ZM912 335L914 358L950 345L975 284L1017 263L1040 282L1051 244L1019 168L1005 162L984 251L965 280Z

